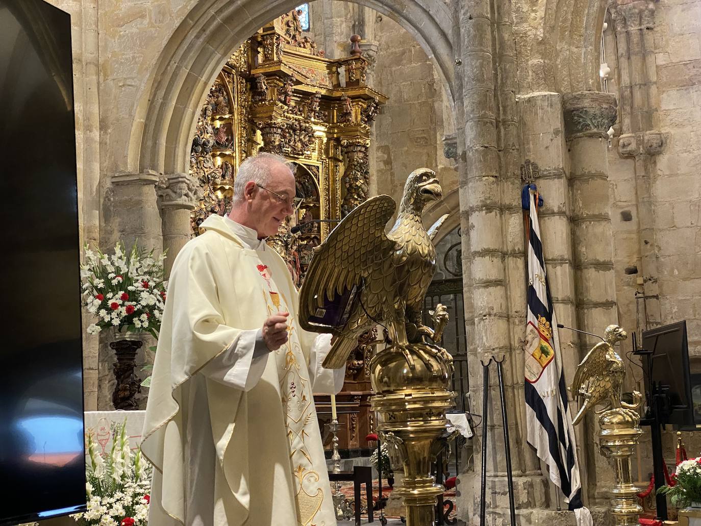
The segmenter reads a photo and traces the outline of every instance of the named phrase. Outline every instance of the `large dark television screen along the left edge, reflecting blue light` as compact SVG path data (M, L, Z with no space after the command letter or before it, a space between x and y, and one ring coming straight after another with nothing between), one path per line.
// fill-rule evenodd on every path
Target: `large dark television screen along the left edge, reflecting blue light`
M0 525L85 509L71 24L0 0Z

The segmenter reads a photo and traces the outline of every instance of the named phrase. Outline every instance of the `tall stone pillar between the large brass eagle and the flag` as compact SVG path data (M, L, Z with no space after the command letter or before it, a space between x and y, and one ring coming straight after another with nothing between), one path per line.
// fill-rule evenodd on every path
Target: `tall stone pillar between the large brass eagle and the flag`
M472 277L471 283L465 286L465 296L472 292L475 321L474 332L470 335L474 343L468 347L471 409L482 414L482 360L504 359L515 504L522 523L532 524L534 508L545 508L547 497L545 478L533 458L533 450L524 440L519 440L524 434L522 366L519 372L522 352L515 351L512 340L516 339L518 311L523 313L525 299L519 306L521 300L511 295L515 288L523 288L524 270L522 255L510 252L517 243L508 241L512 220L520 215L517 210L520 194L513 86L515 65L507 4L477 0L461 5L465 171L459 174L459 188L463 236L469 236L463 239L463 255L469 255ZM498 74L495 69L499 70ZM522 230L520 224L519 220L517 228ZM523 252L522 239L519 241ZM465 309L467 311L467 304ZM521 323L519 330L523 330L523 326ZM505 445L496 365L493 364L490 371L490 410L489 414L482 415L481 424L488 426L487 443L473 441L473 465L461 474L458 488L461 494L458 507L464 510L461 515L470 524L478 522L479 518L482 447L488 448L486 507L489 523L508 522ZM481 433L481 428L476 432Z

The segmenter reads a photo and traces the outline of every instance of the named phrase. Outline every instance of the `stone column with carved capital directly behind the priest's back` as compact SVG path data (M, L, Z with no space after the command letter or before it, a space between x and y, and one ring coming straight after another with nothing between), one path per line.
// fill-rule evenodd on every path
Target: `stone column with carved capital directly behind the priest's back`
M195 177L187 173L162 175L158 183L158 200L161 204L163 226L163 250L165 258L165 275L170 269L175 256L192 236L190 213L200 197L200 185Z

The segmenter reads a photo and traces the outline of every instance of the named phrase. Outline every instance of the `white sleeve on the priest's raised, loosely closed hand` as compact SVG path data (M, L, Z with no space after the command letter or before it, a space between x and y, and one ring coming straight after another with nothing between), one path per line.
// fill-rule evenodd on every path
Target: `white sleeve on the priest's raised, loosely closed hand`
M261 349L261 345L265 349ZM256 349L263 352L255 352ZM255 354L255 356L254 356ZM202 368L205 377L242 391L256 386L266 364L268 350L261 329L243 330L226 351Z

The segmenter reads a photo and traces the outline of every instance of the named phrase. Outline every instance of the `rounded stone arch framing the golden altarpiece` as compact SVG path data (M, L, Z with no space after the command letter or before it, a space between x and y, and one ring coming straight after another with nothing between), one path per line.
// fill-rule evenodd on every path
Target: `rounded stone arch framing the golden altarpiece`
M451 13L441 0L358 0L396 20L416 38L454 96ZM297 0L202 0L172 33L142 93L126 166L131 173L186 173L198 109L240 43Z

